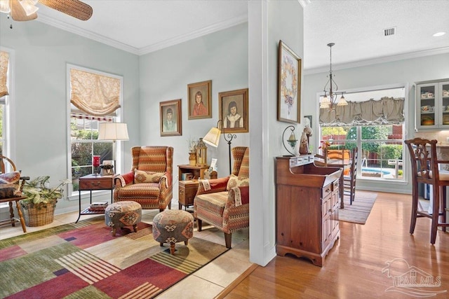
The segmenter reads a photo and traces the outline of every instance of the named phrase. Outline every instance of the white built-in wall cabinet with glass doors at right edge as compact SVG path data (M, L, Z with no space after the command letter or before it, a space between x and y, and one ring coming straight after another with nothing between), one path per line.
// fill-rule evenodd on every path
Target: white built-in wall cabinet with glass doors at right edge
M416 84L416 127L449 129L449 79Z

